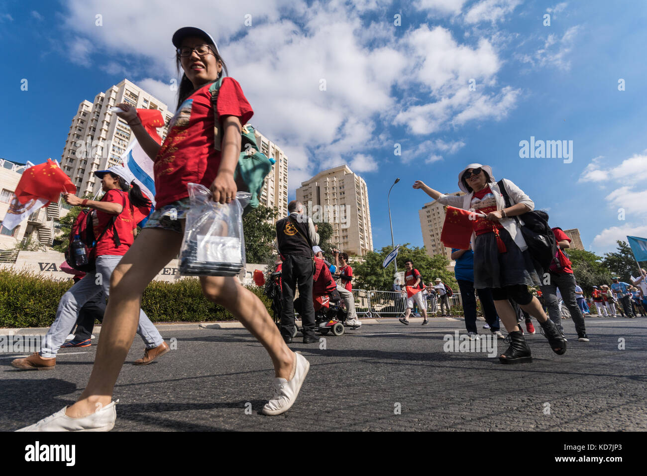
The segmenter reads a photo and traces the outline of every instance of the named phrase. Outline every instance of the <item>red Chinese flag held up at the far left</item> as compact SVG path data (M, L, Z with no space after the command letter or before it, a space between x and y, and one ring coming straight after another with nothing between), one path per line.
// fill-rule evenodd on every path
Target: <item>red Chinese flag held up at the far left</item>
M74 194L76 187L52 159L47 159L44 164L34 165L23 172L15 193L17 200L24 205L38 198L58 201L61 192Z

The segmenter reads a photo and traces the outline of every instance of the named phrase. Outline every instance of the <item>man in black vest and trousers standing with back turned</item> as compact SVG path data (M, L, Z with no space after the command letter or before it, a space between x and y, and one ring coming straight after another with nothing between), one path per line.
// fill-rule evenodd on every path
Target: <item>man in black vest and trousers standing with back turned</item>
M281 280L281 335L292 343L294 334L294 289L299 286L302 300L303 343L318 342L314 336L313 246L319 244L317 226L303 214L303 203L292 200L289 215L276 222L276 244L283 258Z

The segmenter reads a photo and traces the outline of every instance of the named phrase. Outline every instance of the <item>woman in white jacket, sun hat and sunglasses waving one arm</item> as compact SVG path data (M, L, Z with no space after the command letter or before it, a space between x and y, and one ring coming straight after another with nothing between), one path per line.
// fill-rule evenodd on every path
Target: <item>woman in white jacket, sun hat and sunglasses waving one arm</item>
M443 205L464 210L474 210L486 218L474 220L472 249L474 250L474 287L491 288L494 305L501 321L510 334L509 348L499 356L501 363L531 362L531 352L519 328L516 313L508 299L513 299L521 309L530 313L542 325L553 352L566 352L566 341L548 319L538 299L528 291L528 286L542 284L543 275L527 250L523 234L514 218L532 211L533 201L512 181L503 179L511 207L494 180L492 168L487 165L469 164L458 175L458 187L463 196L448 196L433 190L417 180L413 188L420 188Z

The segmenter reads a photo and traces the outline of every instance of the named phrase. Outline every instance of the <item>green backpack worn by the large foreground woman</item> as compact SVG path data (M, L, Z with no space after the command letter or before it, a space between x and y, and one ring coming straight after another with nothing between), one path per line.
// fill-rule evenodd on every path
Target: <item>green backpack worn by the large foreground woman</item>
M214 106L214 146L216 150L220 150L223 140L221 131L219 130L218 113L215 108L218 100L218 91L222 84L223 78L221 77L209 87L211 104ZM276 163L276 160L259 152L254 127L252 125L243 124L241 135L241 154L238 157L234 179L236 180L236 187L239 192L250 192L252 194L251 201L247 204L245 210L243 210L243 214L247 214L252 209L258 208L258 198L263 185L265 185L265 177L272 171L272 166Z

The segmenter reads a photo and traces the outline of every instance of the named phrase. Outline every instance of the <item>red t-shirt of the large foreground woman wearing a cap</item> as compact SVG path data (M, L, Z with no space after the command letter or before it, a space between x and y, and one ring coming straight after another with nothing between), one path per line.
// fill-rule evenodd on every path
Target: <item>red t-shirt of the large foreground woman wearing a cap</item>
M204 85L186 98L171 119L168 135L153 165L157 209L187 198L188 183L210 187L218 174L220 151L214 148L210 85ZM219 117L236 116L241 126L254 114L238 82L228 77L218 91L217 109ZM222 124L218 128L222 131Z

